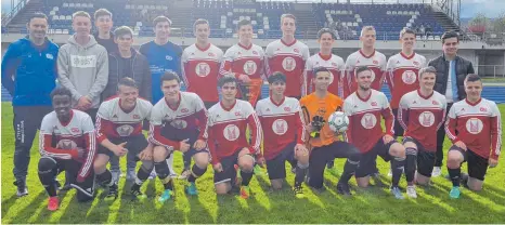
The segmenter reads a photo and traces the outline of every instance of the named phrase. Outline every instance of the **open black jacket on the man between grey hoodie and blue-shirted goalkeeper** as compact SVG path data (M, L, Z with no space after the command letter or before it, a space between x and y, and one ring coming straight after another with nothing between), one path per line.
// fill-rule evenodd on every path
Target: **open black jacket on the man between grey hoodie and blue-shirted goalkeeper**
M121 67L129 66L132 71L132 79L139 85L139 95L142 98L151 101L151 69L147 58L134 49L131 49L131 65L122 65L120 61L121 55L119 52L112 52L108 54L108 82L105 90L102 92L103 100L107 100L117 94L117 83L125 75L119 75Z

